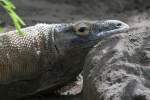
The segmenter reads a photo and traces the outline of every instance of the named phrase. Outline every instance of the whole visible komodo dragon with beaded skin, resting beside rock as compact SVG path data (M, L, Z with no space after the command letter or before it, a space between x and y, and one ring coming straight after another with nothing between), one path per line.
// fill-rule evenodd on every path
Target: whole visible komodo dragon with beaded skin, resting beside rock
M118 20L37 24L0 34L0 100L52 91L75 78L101 39L127 31Z

